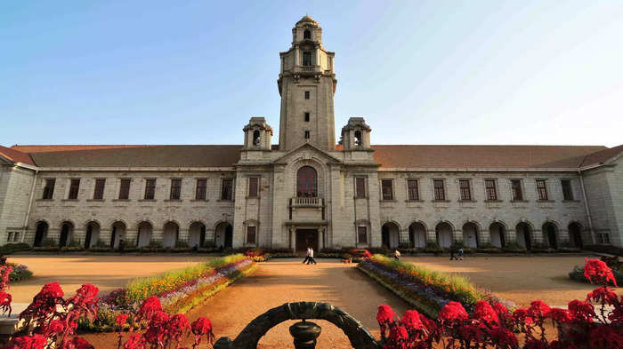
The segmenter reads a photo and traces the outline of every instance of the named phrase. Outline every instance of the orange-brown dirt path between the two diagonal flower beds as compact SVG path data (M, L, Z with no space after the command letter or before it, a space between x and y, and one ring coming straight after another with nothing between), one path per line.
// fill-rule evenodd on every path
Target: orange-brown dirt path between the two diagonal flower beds
M376 307L392 305L398 313L408 305L357 270L336 259L320 259L317 266L300 260L279 259L258 266L254 274L234 283L188 313L190 320L207 316L216 337L238 336L258 315L287 302L328 302L351 313L372 334L379 337ZM260 341L260 348L294 347L287 321L271 329ZM348 338L328 321L314 321L322 327L317 348L351 348ZM96 348L114 348L110 335L88 335ZM108 339L108 340L107 340Z

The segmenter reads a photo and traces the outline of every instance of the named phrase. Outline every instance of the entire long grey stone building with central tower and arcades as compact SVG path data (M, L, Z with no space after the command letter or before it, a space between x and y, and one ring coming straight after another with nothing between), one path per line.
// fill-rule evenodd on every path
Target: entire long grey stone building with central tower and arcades
M336 144L334 52L305 16L281 52L279 143L0 147L0 239L303 250L623 246L623 146Z

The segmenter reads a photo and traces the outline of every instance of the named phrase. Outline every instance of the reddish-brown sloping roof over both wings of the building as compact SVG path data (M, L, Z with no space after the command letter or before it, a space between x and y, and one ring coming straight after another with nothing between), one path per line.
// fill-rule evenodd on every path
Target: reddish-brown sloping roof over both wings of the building
M242 146L2 147L41 167L230 167ZM623 146L372 146L381 169L578 169L623 152ZM341 150L342 146L336 146ZM28 157L28 153L30 156ZM30 163L32 163L30 160ZM23 162L23 161L22 161Z

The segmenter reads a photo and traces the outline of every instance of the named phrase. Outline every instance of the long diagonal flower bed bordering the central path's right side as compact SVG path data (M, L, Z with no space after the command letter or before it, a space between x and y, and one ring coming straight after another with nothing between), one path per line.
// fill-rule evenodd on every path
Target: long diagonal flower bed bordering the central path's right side
M515 306L495 297L487 290L477 289L463 276L434 272L380 255L361 261L357 267L419 311L433 318L437 317L441 308L451 301L461 303L469 312L473 311L479 300L484 299L491 303Z

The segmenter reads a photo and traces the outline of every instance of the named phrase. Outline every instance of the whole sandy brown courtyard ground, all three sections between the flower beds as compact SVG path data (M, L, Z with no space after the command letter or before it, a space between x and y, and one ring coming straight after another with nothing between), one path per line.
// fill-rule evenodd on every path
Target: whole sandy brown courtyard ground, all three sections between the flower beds
M16 302L28 302L46 282L60 282L67 294L80 284L92 282L105 294L128 280L189 266L204 256L12 256L10 261L26 264L35 277L12 285ZM564 306L571 299L584 299L594 286L570 281L567 274L583 265L582 256L467 257L449 261L447 257L405 257L403 261L435 270L464 274L476 285L492 290L499 297L518 305L539 298L550 305ZM355 265L337 259L319 259L317 266L301 264L300 259L273 259L259 265L254 274L235 282L191 310L190 320L209 317L216 337L236 337L256 316L288 302L327 302L351 313L378 337L376 307L392 305L404 313L409 305L390 291L360 273ZM620 291L619 291L620 293ZM347 338L332 324L316 321L322 327L319 348L350 347ZM282 347L290 342L288 327L293 321L271 329L260 341L263 348ZM114 348L112 334L88 334L97 348Z

